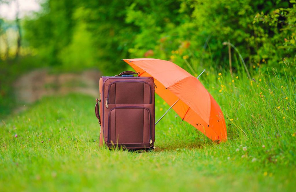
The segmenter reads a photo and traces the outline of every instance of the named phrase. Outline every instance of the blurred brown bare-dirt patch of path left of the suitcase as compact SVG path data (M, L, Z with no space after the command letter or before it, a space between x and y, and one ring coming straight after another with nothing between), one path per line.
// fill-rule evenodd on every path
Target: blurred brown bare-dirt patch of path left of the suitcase
M16 99L20 103L33 103L43 96L79 92L98 97L101 73L86 70L81 73L49 74L37 69L20 76L14 84ZM18 109L22 110L22 109Z

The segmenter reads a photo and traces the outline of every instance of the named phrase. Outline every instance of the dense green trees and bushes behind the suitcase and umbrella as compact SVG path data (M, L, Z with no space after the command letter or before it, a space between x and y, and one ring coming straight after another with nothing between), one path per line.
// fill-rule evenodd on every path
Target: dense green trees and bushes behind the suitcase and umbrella
M228 41L249 69L280 65L281 57L295 63L295 1L49 0L43 7L25 21L25 40L52 65L114 74L122 58L155 57L184 68L184 59L197 60L193 71L228 68Z

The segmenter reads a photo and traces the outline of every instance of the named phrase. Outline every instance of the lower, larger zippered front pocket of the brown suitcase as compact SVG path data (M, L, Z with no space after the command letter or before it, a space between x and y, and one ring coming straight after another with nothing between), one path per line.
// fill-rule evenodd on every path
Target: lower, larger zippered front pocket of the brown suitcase
M108 143L143 144L151 140L150 112L144 107L115 107L109 112ZM149 147L149 146L148 146Z

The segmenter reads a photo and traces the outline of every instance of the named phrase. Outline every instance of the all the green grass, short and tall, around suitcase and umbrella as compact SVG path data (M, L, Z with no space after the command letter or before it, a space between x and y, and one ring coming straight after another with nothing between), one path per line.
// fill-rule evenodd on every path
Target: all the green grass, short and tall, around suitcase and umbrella
M99 148L94 98L43 98L2 121L0 191L293 191L296 97L289 74L259 71L249 80L205 73L200 80L221 106L228 141L213 143L170 111L149 153ZM156 97L156 118L167 108Z

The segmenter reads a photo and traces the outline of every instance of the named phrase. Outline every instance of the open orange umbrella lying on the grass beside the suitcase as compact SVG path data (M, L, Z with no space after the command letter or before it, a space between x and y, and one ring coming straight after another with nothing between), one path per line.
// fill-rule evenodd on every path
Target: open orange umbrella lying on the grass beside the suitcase
M178 65L159 59L123 59L139 73L152 76L155 92L173 110L203 134L216 142L227 140L223 113L200 81Z

